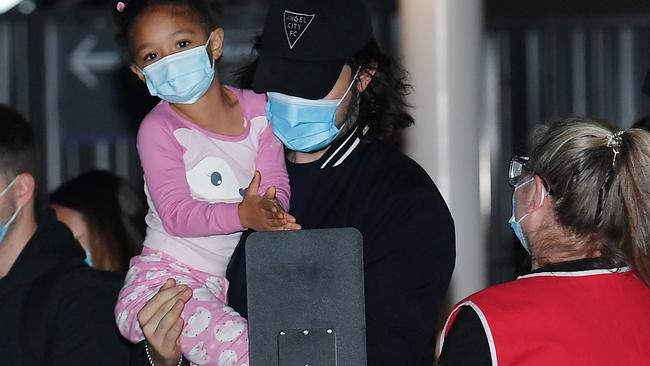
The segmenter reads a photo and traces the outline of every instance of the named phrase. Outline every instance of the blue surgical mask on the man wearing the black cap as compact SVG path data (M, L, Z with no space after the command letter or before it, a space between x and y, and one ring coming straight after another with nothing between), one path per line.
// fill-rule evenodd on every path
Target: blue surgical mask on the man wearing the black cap
M360 69L359 69L360 70ZM299 152L325 148L339 133L336 110L354 85L359 70L341 99L304 99L280 93L267 93L266 115L273 132L284 146Z

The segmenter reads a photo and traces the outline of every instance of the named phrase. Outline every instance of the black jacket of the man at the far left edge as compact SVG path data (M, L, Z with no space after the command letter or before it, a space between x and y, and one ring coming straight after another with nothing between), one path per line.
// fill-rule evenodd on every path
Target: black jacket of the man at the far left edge
M89 268L51 210L0 279L0 364L125 365L113 308L121 280Z

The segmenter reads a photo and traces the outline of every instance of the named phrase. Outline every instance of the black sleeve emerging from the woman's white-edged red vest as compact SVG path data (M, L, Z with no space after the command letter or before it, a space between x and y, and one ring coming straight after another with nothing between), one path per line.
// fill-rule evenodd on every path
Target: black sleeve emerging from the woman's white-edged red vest
M466 365L492 365L485 329L476 312L469 306L458 311L440 355L440 366Z

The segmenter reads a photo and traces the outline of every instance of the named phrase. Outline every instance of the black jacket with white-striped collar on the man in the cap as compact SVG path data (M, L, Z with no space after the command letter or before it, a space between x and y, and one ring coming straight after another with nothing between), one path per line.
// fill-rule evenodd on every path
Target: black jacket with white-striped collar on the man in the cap
M354 227L363 234L368 365L430 366L454 268L454 223L418 164L360 133L351 131L313 163L287 162L291 212L304 229ZM241 243L228 279L229 305L245 314Z

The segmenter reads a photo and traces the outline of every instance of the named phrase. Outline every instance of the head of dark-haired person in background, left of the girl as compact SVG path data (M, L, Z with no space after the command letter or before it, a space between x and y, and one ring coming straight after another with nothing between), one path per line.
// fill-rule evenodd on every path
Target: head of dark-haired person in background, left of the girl
M124 276L129 260L142 252L147 204L126 179L109 171L86 172L52 192L50 206L91 267Z

